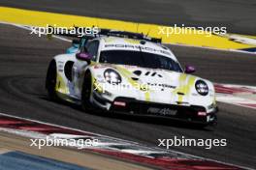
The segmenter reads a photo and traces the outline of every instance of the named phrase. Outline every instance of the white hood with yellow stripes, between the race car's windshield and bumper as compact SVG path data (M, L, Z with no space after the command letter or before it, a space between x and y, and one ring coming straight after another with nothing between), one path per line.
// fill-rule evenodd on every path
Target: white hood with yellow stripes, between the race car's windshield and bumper
M129 95L131 94L130 98L141 100L165 103L183 102L188 104L192 96L208 98L208 96L200 96L195 89L196 81L202 78L191 74L110 64L95 65L95 68L101 72L98 75L103 75L107 69L117 71L122 77L121 84L132 87L127 91L123 89L112 91L116 95L121 94L121 96L130 97ZM212 94L214 92L212 84L208 80L202 80L208 84L209 94Z

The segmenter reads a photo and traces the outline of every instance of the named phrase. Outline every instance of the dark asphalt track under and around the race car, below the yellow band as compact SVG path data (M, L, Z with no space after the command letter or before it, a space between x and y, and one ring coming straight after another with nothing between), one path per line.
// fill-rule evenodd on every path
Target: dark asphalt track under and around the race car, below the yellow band
M45 90L48 62L52 56L63 53L69 45L69 42L48 41L45 37L29 35L27 30L0 24L0 112L111 135L152 147L158 145L157 139L174 138L175 135L226 138L227 147L172 149L256 168L256 111L253 109L219 103L219 123L212 130L179 125L166 119L95 115L84 113L75 106L49 101ZM255 55L194 47L171 48L182 64L195 65L197 74L203 77L217 82L256 85Z

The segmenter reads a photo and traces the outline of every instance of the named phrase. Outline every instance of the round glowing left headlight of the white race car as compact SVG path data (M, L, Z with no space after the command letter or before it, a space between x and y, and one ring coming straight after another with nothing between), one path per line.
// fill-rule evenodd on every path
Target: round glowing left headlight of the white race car
M112 69L107 69L104 71L104 78L110 84L119 84L122 82L121 75Z

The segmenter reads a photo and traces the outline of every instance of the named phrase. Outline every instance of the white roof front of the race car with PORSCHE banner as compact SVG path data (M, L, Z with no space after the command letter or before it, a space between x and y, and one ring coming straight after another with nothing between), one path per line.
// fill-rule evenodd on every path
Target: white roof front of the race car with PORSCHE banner
M154 53L172 58L176 61L173 52L161 43L147 42L144 40L135 40L127 38L117 38L112 36L103 36L99 38L101 41L101 50L131 50Z

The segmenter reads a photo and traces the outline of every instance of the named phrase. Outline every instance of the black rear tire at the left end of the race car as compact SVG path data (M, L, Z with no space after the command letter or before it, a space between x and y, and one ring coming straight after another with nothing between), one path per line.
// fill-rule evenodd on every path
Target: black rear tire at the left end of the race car
M55 91L56 79L57 79L56 62L54 60L51 60L48 65L48 73L46 78L46 88L48 91L48 98L51 100L58 99Z

